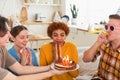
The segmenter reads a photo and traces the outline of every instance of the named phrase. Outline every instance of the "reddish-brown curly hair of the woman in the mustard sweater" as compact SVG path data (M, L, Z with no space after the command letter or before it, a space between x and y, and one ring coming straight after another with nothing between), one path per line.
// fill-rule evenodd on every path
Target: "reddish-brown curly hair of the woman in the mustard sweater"
M64 22L52 22L47 28L47 35L52 38L52 32L61 29L65 31L66 36L69 34L70 29Z

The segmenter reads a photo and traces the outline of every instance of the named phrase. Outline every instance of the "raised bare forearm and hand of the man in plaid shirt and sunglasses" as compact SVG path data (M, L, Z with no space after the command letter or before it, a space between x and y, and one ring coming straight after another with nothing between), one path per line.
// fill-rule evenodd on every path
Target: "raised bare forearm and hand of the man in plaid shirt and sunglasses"
M105 42L107 40L106 35L105 34L99 34L97 41L93 44L92 47L90 47L88 50L86 50L84 52L84 56L83 56L83 61L84 62L90 62L93 60L93 58L95 57L96 53L97 53L97 49L98 47L100 47L100 45Z

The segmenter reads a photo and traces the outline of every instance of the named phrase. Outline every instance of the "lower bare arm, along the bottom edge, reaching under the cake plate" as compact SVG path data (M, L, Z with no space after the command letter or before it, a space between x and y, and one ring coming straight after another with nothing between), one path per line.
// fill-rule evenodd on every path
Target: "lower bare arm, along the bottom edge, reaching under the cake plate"
M23 76L14 76L13 74L8 73L3 78L3 80L42 80L42 79L51 77L53 75L62 74L64 72L66 71L50 70L44 73L30 74L30 75L23 75Z

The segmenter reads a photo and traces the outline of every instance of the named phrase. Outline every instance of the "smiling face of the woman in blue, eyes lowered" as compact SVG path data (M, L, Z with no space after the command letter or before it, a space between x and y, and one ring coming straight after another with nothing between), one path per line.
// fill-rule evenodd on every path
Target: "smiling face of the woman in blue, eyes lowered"
M13 37L14 45L18 48L22 49L25 48L27 42L29 41L28 38L28 31L22 30L16 37Z

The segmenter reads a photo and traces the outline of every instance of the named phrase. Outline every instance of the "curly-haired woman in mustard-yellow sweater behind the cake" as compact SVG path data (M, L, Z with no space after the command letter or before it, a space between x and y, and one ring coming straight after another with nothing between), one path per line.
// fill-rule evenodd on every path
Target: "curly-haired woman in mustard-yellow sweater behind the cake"
M53 40L44 44L40 48L40 65L46 66L51 64L55 59L55 45L61 47L61 56L69 56L75 63L78 63L78 51L76 46L71 42L66 42L70 29L64 22L53 22L47 28L48 36ZM69 71L61 75L53 76L45 80L73 80L78 76L78 70Z

